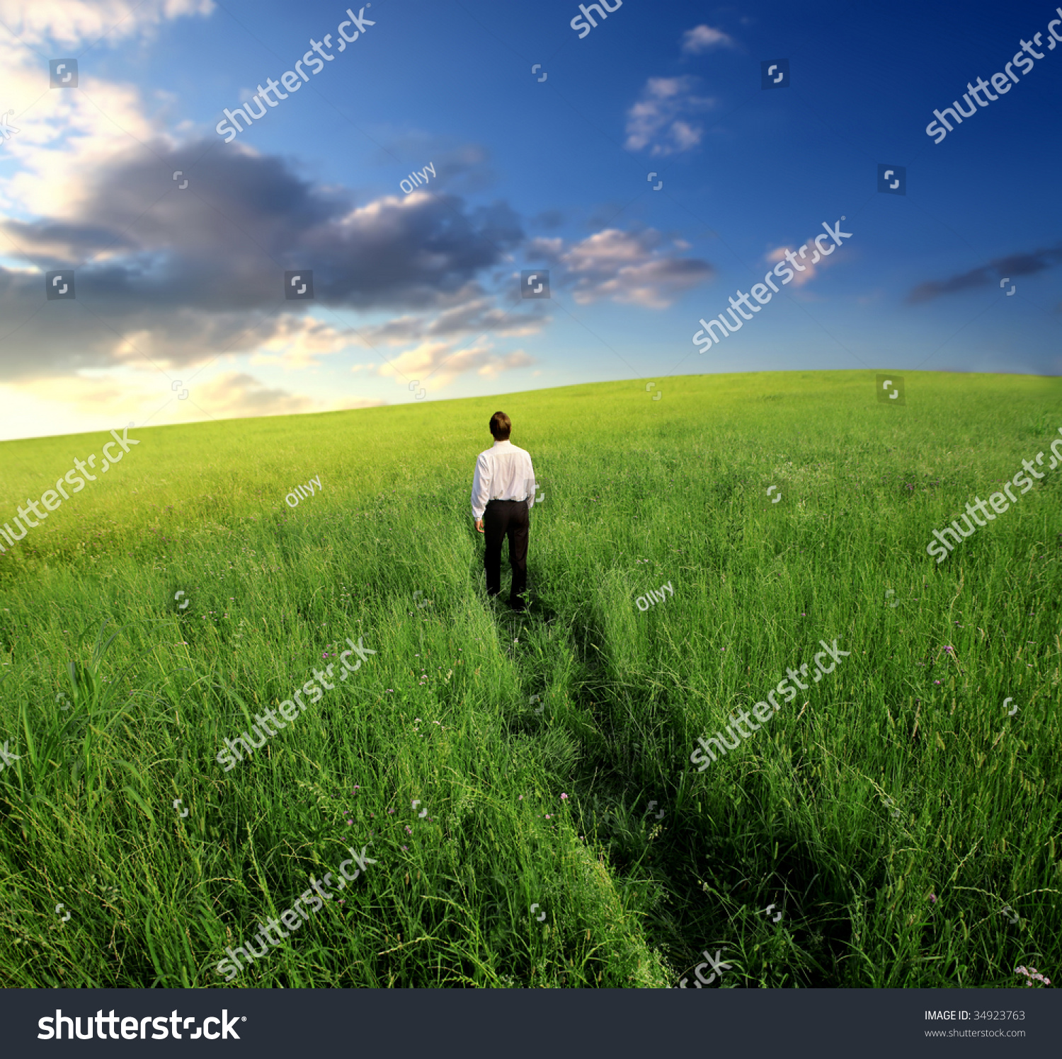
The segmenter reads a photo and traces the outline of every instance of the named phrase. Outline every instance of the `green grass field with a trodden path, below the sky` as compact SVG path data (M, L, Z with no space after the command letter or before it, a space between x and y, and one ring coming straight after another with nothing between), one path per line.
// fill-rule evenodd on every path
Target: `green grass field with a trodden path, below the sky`
M909 372L904 407L874 386L131 431L0 556L0 980L224 985L226 948L326 872L333 899L232 986L693 988L709 947L713 988L1054 980L1062 468L925 549L1048 451L1062 381ZM486 600L469 514L497 409L545 492L520 615ZM4 442L0 519L107 439ZM347 637L377 654L225 771L223 740ZM833 674L690 764L834 639Z

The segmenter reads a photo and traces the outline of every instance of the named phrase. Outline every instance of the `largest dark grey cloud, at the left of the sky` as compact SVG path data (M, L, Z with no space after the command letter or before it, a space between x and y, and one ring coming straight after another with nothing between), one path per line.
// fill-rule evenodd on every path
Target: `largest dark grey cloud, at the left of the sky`
M171 364L254 349L285 311L314 303L285 300L286 270L313 271L319 305L448 307L524 238L503 203L358 203L242 147L154 150L160 160L138 152L86 174L72 216L2 222L10 256L76 270L78 300L45 305L42 275L0 270L0 378L112 365L119 334Z

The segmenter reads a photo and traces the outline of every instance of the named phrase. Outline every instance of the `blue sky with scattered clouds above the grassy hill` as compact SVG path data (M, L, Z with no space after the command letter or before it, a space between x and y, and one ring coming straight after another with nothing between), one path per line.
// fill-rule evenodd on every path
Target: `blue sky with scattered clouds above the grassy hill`
M421 390L1062 366L1055 7L622 0L582 36L554 0L360 10L375 24L339 52L345 4L319 0L0 2L0 437ZM332 58L225 142L223 109L311 40ZM71 56L79 86L50 88ZM788 86L765 90L775 59ZM926 134L996 73L1006 94ZM906 194L878 191L879 163ZM700 317L842 216L851 239L699 352ZM551 297L521 298L547 268ZM47 300L68 270L75 298ZM286 299L307 271L313 300Z

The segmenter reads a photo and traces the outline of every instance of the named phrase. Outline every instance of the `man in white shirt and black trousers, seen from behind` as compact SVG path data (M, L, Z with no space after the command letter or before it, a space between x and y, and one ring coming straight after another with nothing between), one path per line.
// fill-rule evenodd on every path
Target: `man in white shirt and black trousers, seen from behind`
M534 506L534 468L531 456L509 440L513 424L504 412L491 416L494 445L476 459L472 480L472 517L476 528L485 535L483 566L486 569L486 594L501 591L501 540L509 538L509 562L513 584L509 604L524 610L528 584L528 513Z

